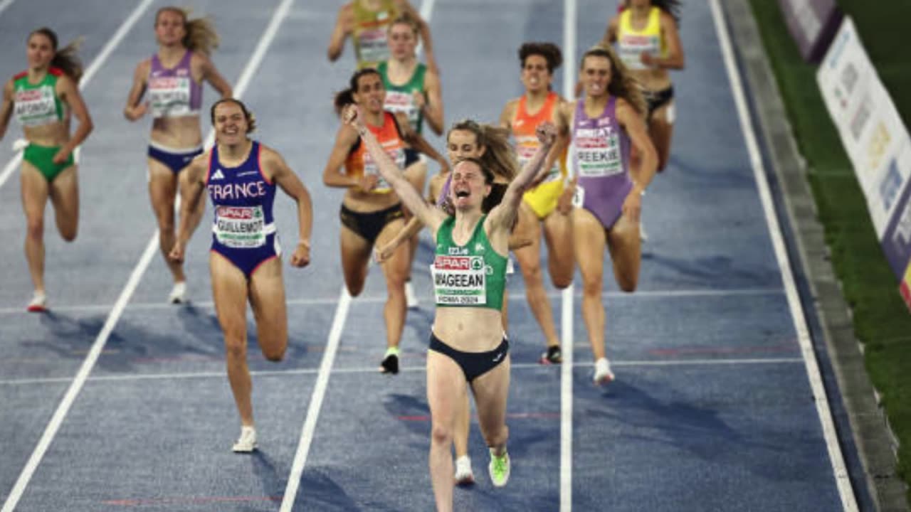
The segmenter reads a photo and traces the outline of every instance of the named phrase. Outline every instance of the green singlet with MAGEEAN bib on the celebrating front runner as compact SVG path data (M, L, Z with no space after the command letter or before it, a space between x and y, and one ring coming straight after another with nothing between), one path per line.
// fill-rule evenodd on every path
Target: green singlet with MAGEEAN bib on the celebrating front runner
M494 251L487 240L486 217L477 221L465 245L453 241L455 217L444 220L436 230L436 257L431 267L436 307L503 308L507 258Z

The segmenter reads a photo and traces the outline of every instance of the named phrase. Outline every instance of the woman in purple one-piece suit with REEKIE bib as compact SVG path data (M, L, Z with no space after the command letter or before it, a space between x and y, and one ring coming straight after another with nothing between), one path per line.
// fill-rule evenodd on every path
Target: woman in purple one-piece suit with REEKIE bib
M584 96L563 108L572 116L572 169L576 176L572 212L573 251L582 273L582 318L595 357L596 384L613 380L604 352L601 284L604 248L624 292L639 281L641 196L655 176L658 155L645 127L645 99L629 71L609 46L593 46L582 56ZM630 143L641 155L630 169ZM566 200L568 196L561 198Z

